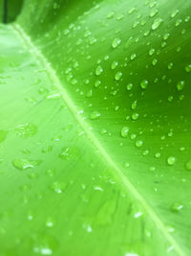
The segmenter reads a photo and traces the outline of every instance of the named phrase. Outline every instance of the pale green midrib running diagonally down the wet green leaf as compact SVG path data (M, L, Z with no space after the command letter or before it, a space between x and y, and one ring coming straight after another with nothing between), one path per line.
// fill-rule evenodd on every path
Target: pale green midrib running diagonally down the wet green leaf
M56 73L55 73L51 63L47 60L47 58L45 58L45 56L40 52L40 50L35 47L35 45L32 42L31 37L24 32L24 30L20 27L20 25L14 23L10 26L11 26L12 30L15 32L15 34L18 35L22 39L24 45L29 49L29 53L32 54L34 58L39 60L42 63L42 65L45 67L47 74L49 75L50 79L53 81L53 84L59 90L63 101L68 105L69 109L71 110L71 112L74 115L74 118L76 119L78 124L81 126L81 128L83 128L87 137L95 145L96 149L101 153L103 158L107 161L108 165L112 167L112 168L110 168L111 172L113 171L112 175L115 175L117 177L117 179L120 181L120 183L122 182L125 189L128 192L130 192L132 194L132 196L140 202L140 204L145 209L145 211L150 215L151 219L157 224L159 230L164 235L166 240L174 246L174 249L177 251L177 253L180 256L185 256L185 253L183 252L182 248L180 247L180 244L178 244L176 242L176 240L171 236L171 234L169 234L167 232L165 225L159 219L159 216L154 212L154 210L146 202L146 200L138 193L138 190L130 182L130 180L125 175L123 175L122 171L117 167L117 164L113 161L113 159L110 157L108 152L105 151L105 149L102 147L100 142L96 139L96 136L92 132L92 130L89 128L88 123L84 122L84 120L81 118L81 116L77 113L77 109L73 103L73 100L70 98L67 90L62 86L62 82L56 76Z

